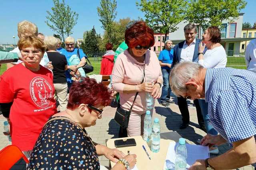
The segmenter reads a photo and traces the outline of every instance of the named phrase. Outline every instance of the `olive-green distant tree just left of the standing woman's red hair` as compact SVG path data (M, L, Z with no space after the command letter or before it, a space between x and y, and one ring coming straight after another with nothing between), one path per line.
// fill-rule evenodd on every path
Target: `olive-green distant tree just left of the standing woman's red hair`
M116 50L117 47L124 41L124 33L126 30L126 25L131 21L131 19L123 18L120 19L118 22L114 21L113 23L113 33L112 33L112 45L113 50ZM105 51L105 45L108 43L108 33L105 31L102 39L102 43L100 43L100 51Z

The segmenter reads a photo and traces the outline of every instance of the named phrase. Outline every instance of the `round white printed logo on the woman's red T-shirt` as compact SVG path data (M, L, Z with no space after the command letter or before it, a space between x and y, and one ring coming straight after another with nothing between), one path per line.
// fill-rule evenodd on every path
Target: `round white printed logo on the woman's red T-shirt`
M30 82L30 95L37 106L47 107L53 96L53 90L47 80L35 77Z

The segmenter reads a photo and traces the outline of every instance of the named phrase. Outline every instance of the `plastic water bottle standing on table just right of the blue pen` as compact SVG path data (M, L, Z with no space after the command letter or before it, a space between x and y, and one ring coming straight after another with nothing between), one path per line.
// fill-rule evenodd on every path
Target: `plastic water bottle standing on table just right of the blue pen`
M155 118L152 126L152 135L151 135L151 151L159 152L160 150L160 124L159 119Z

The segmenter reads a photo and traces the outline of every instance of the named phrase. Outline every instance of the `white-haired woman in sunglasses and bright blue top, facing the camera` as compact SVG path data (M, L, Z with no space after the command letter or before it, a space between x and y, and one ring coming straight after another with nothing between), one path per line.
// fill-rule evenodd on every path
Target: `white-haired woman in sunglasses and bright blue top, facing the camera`
M85 72L82 69L82 66L84 66L86 64L86 55L84 54L84 51L82 49L77 49L75 48L75 40L73 37L67 37L65 39L65 45L66 45L66 51L63 51L63 55L65 55L67 61L68 61L68 66L70 67L70 70L72 70L72 72L66 71L66 79L67 79L67 83L68 83L68 89L70 89L70 86L72 85L73 80L71 79L70 74L77 74L77 75L83 75L85 76ZM79 55L79 59L80 62L77 64L72 64L74 62L72 62L73 60L76 60L76 58L78 58ZM70 60L71 59L71 60ZM81 69L79 69L81 68ZM79 69L79 72L78 72Z

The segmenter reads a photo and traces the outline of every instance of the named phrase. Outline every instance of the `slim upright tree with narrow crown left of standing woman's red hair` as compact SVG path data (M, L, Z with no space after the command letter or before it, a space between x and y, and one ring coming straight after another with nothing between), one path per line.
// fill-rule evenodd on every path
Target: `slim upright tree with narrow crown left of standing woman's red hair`
M108 40L112 43L113 22L116 18L116 0L101 0L100 7L97 7L98 16L102 23L102 28L108 33Z

